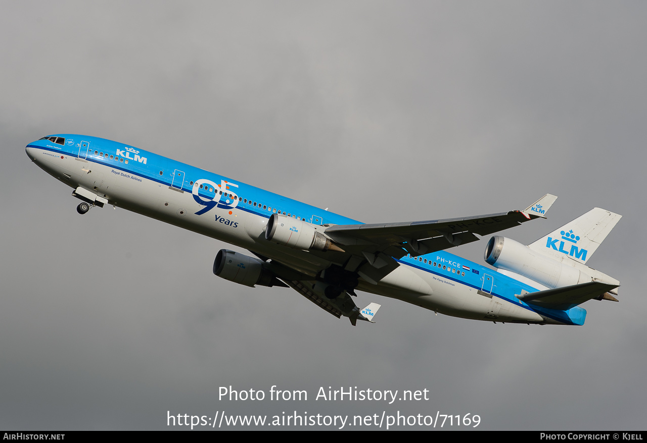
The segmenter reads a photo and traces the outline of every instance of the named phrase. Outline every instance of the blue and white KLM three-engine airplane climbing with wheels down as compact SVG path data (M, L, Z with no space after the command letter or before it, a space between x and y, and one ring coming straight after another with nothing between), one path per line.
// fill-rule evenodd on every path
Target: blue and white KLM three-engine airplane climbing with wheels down
M546 194L521 211L421 222L364 224L153 152L107 139L55 134L27 156L72 187L77 207L112 205L250 251L221 249L213 272L249 287L290 287L351 324L373 320L356 291L488 322L583 325L588 300L617 302L618 280L586 265L620 220L595 208L530 245L493 236L485 261L446 249L546 218Z

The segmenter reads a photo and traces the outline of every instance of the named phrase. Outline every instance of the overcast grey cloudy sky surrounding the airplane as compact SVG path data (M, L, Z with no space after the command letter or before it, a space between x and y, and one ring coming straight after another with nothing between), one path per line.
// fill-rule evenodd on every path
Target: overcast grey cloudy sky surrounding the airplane
M167 429L167 411L481 416L477 429L644 429L644 2L1 1L0 427ZM352 327L212 274L225 243L122 209L79 216L24 147L114 139L363 222L523 209L531 242L624 217L587 264L620 303L582 327L435 316ZM489 237L455 251L483 263ZM305 389L307 402L226 402ZM429 389L322 402L320 386Z

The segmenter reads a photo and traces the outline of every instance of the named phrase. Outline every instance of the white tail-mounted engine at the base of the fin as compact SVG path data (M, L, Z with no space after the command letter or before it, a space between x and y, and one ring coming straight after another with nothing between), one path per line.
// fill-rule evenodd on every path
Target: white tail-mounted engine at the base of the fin
M510 238L494 236L485 247L485 261L490 265L520 274L549 288L586 283L591 276L573 266L532 251Z

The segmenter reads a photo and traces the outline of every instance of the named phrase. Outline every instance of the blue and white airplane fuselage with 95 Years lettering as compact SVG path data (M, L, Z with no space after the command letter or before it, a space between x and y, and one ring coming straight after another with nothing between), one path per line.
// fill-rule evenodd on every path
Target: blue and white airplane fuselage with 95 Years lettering
M300 251L269 242L272 214L314 225L358 225L307 205L213 172L89 136L58 134L27 146L41 169L72 187L139 214L171 223L276 260L314 278L336 263L334 252ZM58 143L57 143L58 141ZM62 141L62 145L61 145ZM398 260L377 284L360 279L356 289L419 305L437 313L527 324L583 324L586 311L542 309L519 300L535 287L445 251Z

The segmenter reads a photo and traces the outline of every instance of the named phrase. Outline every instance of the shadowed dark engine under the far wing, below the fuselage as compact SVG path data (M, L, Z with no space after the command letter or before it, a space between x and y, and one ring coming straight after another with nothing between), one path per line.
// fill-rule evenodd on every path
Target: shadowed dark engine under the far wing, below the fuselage
M284 285L263 264L258 258L221 249L215 256L214 274L230 282L251 287Z

